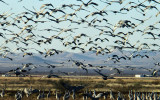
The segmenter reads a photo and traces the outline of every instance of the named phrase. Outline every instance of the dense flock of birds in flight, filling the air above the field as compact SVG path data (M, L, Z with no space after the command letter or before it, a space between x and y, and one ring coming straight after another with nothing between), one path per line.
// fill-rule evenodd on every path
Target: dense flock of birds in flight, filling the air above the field
M23 53L22 57L34 56L35 53L38 53L46 58L66 51L82 53L92 51L98 56L109 55L114 50L119 50L121 55L111 55L105 60L105 62L113 61L116 64L121 60L150 58L147 55L148 52L159 50L160 2L158 0L75 1L76 3L62 4L58 7L53 3L46 3L36 9L24 5L22 6L24 12L12 13L14 8L11 8L9 11L1 13L0 56L13 61L15 59L11 55L16 53ZM19 2L23 2L23 0ZM3 0L0 0L0 3L7 7L10 5ZM138 37L135 37L136 34ZM62 49L60 49L61 47ZM125 50L131 52L125 54ZM142 54L143 50L145 53ZM153 58L153 60L155 59ZM85 64L72 58L60 64L65 66L67 62L78 66L86 73L89 68L94 68L94 72L101 75L104 80L108 77L102 72L107 66ZM52 70L57 67L57 65L47 62L44 64L22 64L22 67L12 69L8 73L18 76L37 67L47 67ZM155 66L160 66L158 61L155 62ZM120 68L112 66L111 70L121 74ZM134 70L136 67L125 66L124 69L126 68ZM155 68L141 67L139 69L148 70L154 76L159 72L159 69ZM48 78L52 76L59 78L52 72L47 75ZM96 97L93 94L86 94L86 96ZM21 93L19 92L16 97L20 98Z

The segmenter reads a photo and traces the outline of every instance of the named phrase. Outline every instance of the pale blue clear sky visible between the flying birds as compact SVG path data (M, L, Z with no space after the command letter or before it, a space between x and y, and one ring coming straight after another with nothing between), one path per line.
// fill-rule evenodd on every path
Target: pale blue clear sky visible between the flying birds
M84 1L88 2L89 0L84 0ZM150 9L150 10L149 9L145 9L145 12L146 12L145 16L143 16L140 12L138 12L138 11L140 11L139 8L137 8L138 11L136 9L130 10L129 12L123 11L122 13L124 13L124 14L121 14L121 13L115 14L115 13L112 12L112 11L119 11L123 7L128 8L131 5L135 5L134 3L133 4L132 3L128 4L128 2L130 2L132 0L123 0L122 4L115 3L114 2L115 0L113 0L112 5L110 5L110 6L108 6L108 4L106 4L104 2L111 1L111 0L102 0L102 1L103 2L100 2L99 0L93 0L93 2L98 4L98 6L94 6L94 7L93 6L88 6L88 7L84 7L83 6L82 8L85 9L86 11L84 11L84 10L77 11L76 12L76 16L74 16L74 17L68 16L67 18L68 19L72 19L73 21L79 21L79 20L81 20L81 18L85 19L86 15L89 15L92 12L95 12L95 11L98 11L98 10L100 11L100 10L105 8L105 11L108 13L108 15L104 15L104 16L100 16L100 15L89 16L85 20L90 22L93 19L99 19L100 20L100 19L105 18L105 19L108 20L108 23L110 23L112 25L107 24L107 22L105 22L105 21L103 21L101 23L96 22L95 25L109 26L109 27L111 27L111 29L114 29L114 28L116 28L116 25L118 25L118 22L120 20L130 20L131 22L133 22L133 23L138 25L140 23L140 21L138 21L136 19L148 19L144 23L138 25L134 29L126 28L126 27L125 28L117 28L114 31L114 34L117 34L118 32L127 33L127 32L132 32L132 31L135 31L135 30L144 30L149 25L153 25L157 21L160 20L159 16L158 17L155 16L157 14L157 12L158 12L156 9ZM139 0L139 1L140 2L144 2L145 1L143 4L148 5L148 6L149 5L155 6L155 7L157 7L157 9L159 9L159 7L160 7L155 2L150 2L149 3L149 2L147 2L147 0ZM8 3L8 5L0 2L0 7L2 9L2 10L0 10L0 14L6 14L6 15L11 14L7 18L7 21L10 21L10 22L13 22L13 23L15 22L13 20L13 18L16 18L17 16L22 15L22 12L28 11L25 8L27 8L27 9L29 9L31 11L37 11L38 12L38 11L41 10L40 7L43 4L51 3L54 6L54 8L62 9L67 14L70 14L70 13L73 13L74 10L70 9L70 8L67 8L67 9L61 8L61 6L63 4L77 4L77 5L81 5L82 4L82 2L77 1L77 0L71 0L70 2L68 2L68 0L43 0L43 1L23 0L21 2L18 2L18 0L5 0L5 2ZM135 3L138 3L138 1L135 1ZM52 8L52 7L48 7L48 8ZM78 9L78 7L77 7L77 9ZM45 9L45 11L46 11L46 9ZM63 15L64 14L60 13L60 12L59 13L53 13L53 16L56 16L56 18L60 18ZM18 45L16 45L13 42L9 42L9 43L5 44L4 42L5 42L6 39L0 38L0 41L1 41L0 47L8 46L10 49L12 49L13 52L19 52L19 51L15 51L15 49L17 47L27 48L27 50L28 50L27 52L36 52L36 49L38 49L40 51L47 51L47 50L52 49L52 48L55 48L55 49L58 49L58 50L62 50L62 51L68 51L68 52L81 52L79 49L75 49L75 50L71 49L75 45L71 45L71 46L65 47L63 45L63 43L64 42L68 42L68 41L71 42L75 36L78 36L78 35L80 35L82 33L84 33L87 36L89 36L92 41L94 41L96 38L101 38L101 39L108 38L109 41L105 41L103 43L101 41L96 41L95 42L96 44L98 44L97 47L100 46L102 48L107 47L107 48L113 49L113 46L118 46L118 44L115 44L114 42L116 40L121 40L121 38L119 38L119 37L112 37L112 36L108 36L108 35L105 35L105 34L99 35L99 33L101 31L99 31L95 27L89 27L87 23L83 23L83 24L77 25L77 24L71 23L69 21L64 21L64 22L61 22L61 23L57 24L55 22L52 22L52 21L48 20L47 18L51 18L51 17L45 16L45 17L40 17L40 18L36 19L35 16L34 16L33 17L34 20L46 21L45 23L39 23L39 24L33 23L31 21L29 21L27 24L17 23L17 22L15 22L15 23L18 24L21 27L25 27L26 25L33 25L33 34L36 34L36 37L33 37L32 40L35 40L35 41L38 41L39 39L41 39L40 36L51 37L53 35L59 34L60 31L62 31L62 30L59 30L57 28L61 28L61 29L75 28L75 30L74 30L74 32L62 32L62 33L60 33L59 36L65 38L63 41L60 41L58 39L53 39L51 44L44 44L43 43L40 46L35 44L33 41L27 41L27 43L29 43L28 46L24 45L24 43L19 43ZM62 17L60 19L64 20L65 18ZM26 20L26 19L24 19L24 20ZM1 19L1 22L5 22L5 20ZM156 24L154 26L159 28L159 24ZM16 28L15 26L12 26L12 25L10 25L10 26L2 26L2 28L0 28L0 30L1 30L2 33L5 34L7 39L11 39L13 37L13 35L6 35L6 34L12 34L12 33L8 32L8 31L3 31L3 28L10 29L14 33L21 32L20 29ZM56 30L56 31L51 31L51 32L41 31L41 30L48 29L48 28ZM111 31L111 29L107 28L107 27L98 27L98 28L103 29L105 31ZM148 31L146 31L146 32L148 32ZM157 34L157 35L160 34L158 32L158 30L152 30L152 32L154 32L154 34ZM27 33L25 33L25 32L22 33L22 37L23 38L25 38L26 36L28 36ZM123 36L123 35L121 35L121 36ZM79 39L79 41L81 43L84 43L83 45L81 45L79 47L85 48L86 51L88 51L88 49L93 46L92 44L88 44L87 46L85 45L88 41L90 41L89 37L81 37ZM159 42L159 39L153 40L153 39L146 39L146 38L153 38L153 37L151 35L144 34L142 32L134 32L133 35L128 35L126 41L128 41L132 45L135 44L136 47L139 47L143 43L147 43L147 44L149 44L151 46L151 44L154 44L154 43L157 44ZM20 40L17 40L17 41L20 42ZM140 41L140 42L138 42L138 41ZM151 49L158 50L159 48L151 47L150 50ZM126 50L129 50L129 49L126 49ZM1 52L4 52L3 49L1 49Z

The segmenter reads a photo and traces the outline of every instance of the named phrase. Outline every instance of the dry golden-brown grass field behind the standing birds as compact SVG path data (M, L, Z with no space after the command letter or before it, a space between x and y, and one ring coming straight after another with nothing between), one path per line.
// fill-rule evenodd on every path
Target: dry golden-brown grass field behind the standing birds
M115 77L114 79L103 80L98 76L72 76L62 78L41 78L41 77L0 77L0 89L5 88L4 98L0 100L13 100L14 95L18 90L24 88L39 89L45 92L45 95L51 89L51 98L46 100L54 100L55 90L62 94L67 90L67 86L84 86L78 91L77 97L81 98L84 91L96 90L97 92L106 92L109 94L110 90L117 94L120 91L127 98L129 90L136 92L160 92L160 78L134 78L134 77ZM23 97L23 100L34 100L38 93L32 97ZM56 100L56 99L55 99ZM72 100L72 99L71 99ZM79 100L79 99L77 99Z

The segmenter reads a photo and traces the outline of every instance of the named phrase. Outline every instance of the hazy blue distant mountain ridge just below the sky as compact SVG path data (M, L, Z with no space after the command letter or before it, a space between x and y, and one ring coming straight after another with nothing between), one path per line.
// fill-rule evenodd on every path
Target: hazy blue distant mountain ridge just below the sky
M44 57L40 54L34 54L33 56L22 56L22 54L14 54L9 55L9 57L13 58L13 61L10 61L7 58L0 58L0 64L5 66L7 64L22 64L22 63L33 63L33 64L43 64L44 62L48 62L50 64L59 64L60 62L65 62L69 59L79 60L79 61L85 61L85 63L92 63L92 64L98 64L98 65L142 65L142 66L153 66L154 62L158 62L160 59L160 53L157 52L148 52L147 55L150 58L134 58L131 61L130 60L120 60L118 63L113 63L112 60L108 60L108 57L112 57L112 55L118 55L119 57L125 56L125 55L131 55L130 51L124 51L122 54L120 51L115 50L113 53L106 54L106 55L96 55L93 52L86 52L86 53L71 53L71 52L63 52L58 55L53 55L50 57ZM146 53L140 52L140 54L145 55ZM153 60L154 58L154 60Z

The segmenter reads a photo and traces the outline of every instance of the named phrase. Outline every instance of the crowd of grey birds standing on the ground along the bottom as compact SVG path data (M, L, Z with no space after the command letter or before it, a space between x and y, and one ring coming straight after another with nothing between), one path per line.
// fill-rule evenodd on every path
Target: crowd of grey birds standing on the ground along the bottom
M41 91L39 89L24 88L20 89L15 93L16 100L22 100L22 98L30 98L33 95L37 95L37 100L39 99L56 99L56 100L77 100L82 98L82 100L159 100L157 92L136 92L130 90L128 95L122 94L120 91L118 93L113 92L112 90L106 92L96 92L96 90L85 90L84 93L79 94L79 91L82 88L74 87L70 91L65 91L64 93L58 90L51 91ZM7 91L3 88L0 96L5 98ZM79 98L80 97L80 98ZM33 97L32 97L33 98Z

